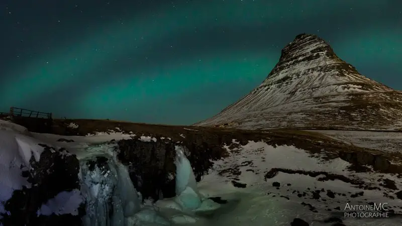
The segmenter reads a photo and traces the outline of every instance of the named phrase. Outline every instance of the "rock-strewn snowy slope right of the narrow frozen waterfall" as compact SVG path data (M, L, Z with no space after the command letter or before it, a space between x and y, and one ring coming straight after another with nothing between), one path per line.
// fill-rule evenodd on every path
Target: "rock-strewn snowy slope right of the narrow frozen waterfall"
M231 212L237 213L237 223L246 223L252 215L257 225L264 221L272 223L267 225L289 225L296 217L314 225L327 225L325 220L336 215L346 225L391 225L397 222L393 214L402 213L397 197L402 180L396 175L351 171L350 163L340 158L323 158L293 146L273 147L249 141L246 145L227 144L225 148L229 157L214 162L198 189L204 196L220 196L228 202L239 198L238 207ZM236 186L239 184L242 186ZM391 218L370 218L366 222L344 216L347 204L384 202ZM227 220L225 223L235 223L229 217Z

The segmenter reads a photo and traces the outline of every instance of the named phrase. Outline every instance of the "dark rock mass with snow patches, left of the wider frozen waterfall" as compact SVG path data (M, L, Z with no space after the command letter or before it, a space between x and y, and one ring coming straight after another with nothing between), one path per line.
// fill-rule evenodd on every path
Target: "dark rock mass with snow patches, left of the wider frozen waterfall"
M74 193L79 189L78 171L78 160L67 150L0 130L0 224L23 225L25 220L59 224L62 218L57 215L65 214L71 222L80 219L82 198Z

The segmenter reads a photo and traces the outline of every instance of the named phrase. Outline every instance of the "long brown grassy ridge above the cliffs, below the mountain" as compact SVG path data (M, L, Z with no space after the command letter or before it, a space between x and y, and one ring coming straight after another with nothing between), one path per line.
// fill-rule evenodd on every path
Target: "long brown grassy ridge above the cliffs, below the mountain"
M68 126L70 123L78 125L78 128L70 128ZM52 133L64 136L85 136L95 132L118 131L116 128L124 133L132 132L137 136L152 136L157 139L161 137L171 138L173 141L182 142L187 147L192 145L205 146L206 149L215 149L220 153L223 151L222 146L232 144L233 139L243 145L247 144L248 141L264 141L273 146L292 145L312 154L320 153L324 159L340 157L352 163L354 170L365 171L368 170L365 165L371 165L377 171L402 173L399 166L402 165L399 164L402 162L402 154L389 156L381 150L347 145L323 134L308 131L249 131L216 127L151 125L110 120L55 119L53 120ZM391 164L390 160L394 164Z

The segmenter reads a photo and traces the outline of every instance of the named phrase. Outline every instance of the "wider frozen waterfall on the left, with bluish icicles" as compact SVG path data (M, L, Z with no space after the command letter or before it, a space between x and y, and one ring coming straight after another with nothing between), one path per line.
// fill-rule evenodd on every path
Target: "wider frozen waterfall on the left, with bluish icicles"
M115 145L95 145L80 159L81 192L86 200L85 226L129 226L141 208L126 166L117 161Z

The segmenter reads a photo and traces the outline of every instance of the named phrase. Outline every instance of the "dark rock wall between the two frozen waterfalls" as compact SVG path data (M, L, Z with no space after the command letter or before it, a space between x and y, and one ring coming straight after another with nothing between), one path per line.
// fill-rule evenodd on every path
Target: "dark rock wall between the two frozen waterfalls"
M129 166L134 187L144 199L175 196L174 144L161 140L120 140L118 145L118 159Z

